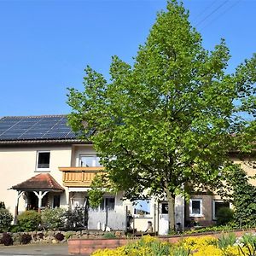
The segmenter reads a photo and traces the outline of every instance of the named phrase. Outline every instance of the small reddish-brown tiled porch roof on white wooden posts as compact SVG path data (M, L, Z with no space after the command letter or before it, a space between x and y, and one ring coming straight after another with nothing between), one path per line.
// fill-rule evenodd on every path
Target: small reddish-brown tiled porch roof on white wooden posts
M40 173L34 177L27 179L23 183L13 186L11 189L16 190L54 190L64 191L59 183L55 181L49 173Z

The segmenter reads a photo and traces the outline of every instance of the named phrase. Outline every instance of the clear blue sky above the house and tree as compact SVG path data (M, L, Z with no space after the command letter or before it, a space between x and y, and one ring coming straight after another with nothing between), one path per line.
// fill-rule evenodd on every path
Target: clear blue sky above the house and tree
M229 71L256 46L256 0L185 0L212 49L225 38ZM161 0L0 0L0 116L69 113L67 87L83 89L84 67L108 77L112 55L132 62Z

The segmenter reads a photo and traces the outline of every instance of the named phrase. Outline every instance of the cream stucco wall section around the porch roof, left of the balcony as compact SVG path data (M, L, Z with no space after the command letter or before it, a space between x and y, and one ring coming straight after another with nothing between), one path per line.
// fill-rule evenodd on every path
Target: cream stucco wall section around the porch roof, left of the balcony
M62 183L62 173L59 166L70 166L71 146L12 146L0 147L0 201L4 201L6 207L15 214L15 202L17 191L10 189L12 186L22 183L27 179L36 176L42 171L37 171L38 151L49 151L49 173L58 183ZM65 188L64 188L65 189ZM61 206L66 206L67 189L61 195ZM20 211L24 211L25 202L20 197Z

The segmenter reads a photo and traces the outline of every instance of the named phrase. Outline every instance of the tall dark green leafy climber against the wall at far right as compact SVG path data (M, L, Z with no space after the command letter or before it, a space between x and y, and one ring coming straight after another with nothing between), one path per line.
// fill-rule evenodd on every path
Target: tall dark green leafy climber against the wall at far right
M236 225L256 225L256 187L248 183L246 172L239 166L230 172L229 182L233 187L234 221Z

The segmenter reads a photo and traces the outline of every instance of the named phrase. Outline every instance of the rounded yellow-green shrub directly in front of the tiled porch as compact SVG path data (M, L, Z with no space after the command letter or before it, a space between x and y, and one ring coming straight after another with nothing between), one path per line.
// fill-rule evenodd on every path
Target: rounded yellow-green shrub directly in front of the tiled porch
M18 224L22 231L38 230L38 225L41 223L41 215L36 211L22 212L18 216Z

